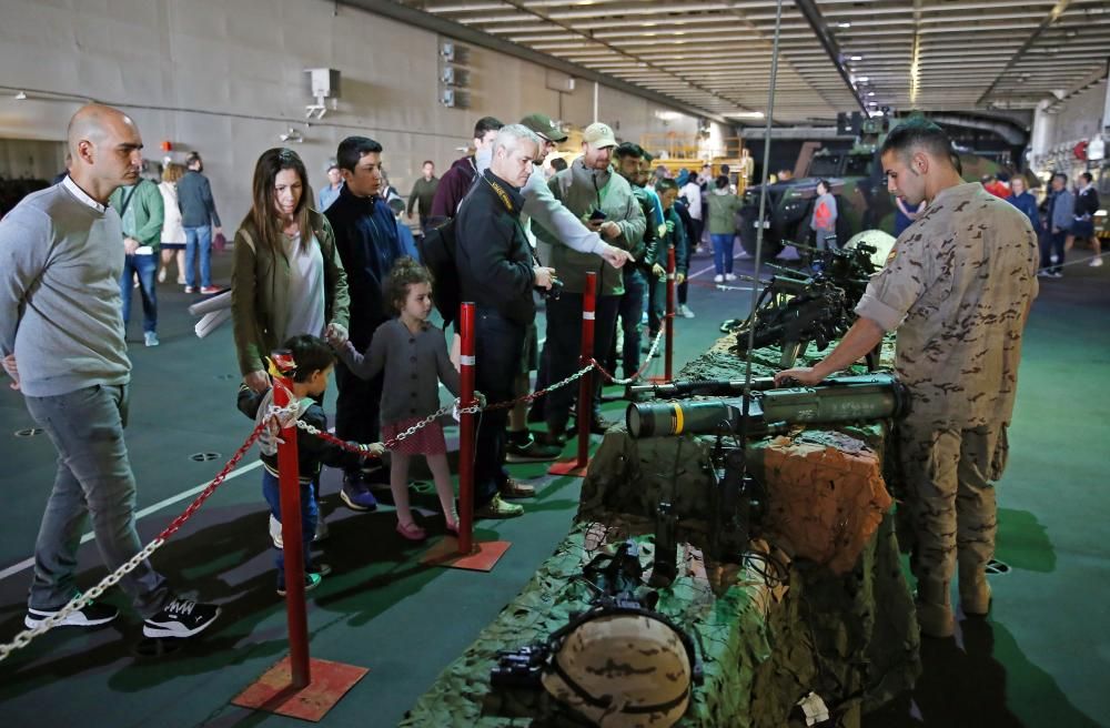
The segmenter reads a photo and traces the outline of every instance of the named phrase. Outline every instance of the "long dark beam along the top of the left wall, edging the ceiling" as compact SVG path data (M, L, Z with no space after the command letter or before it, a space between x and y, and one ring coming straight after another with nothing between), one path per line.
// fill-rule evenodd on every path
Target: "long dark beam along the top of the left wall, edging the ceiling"
M625 93L630 93L642 99L647 99L648 101L654 101L655 103L669 107L676 111L686 112L693 117L710 119L728 127L731 127L733 123L720 114L684 101L679 101L678 99L669 97L665 93L650 91L633 83L628 83L627 81L622 81L620 79L606 73L592 71L591 69L578 65L577 63L564 61L545 53L539 53L523 46L518 46L517 43L497 38L496 36L492 36L481 30L475 30L474 28L463 26L462 23L457 23L445 18L440 18L423 10L417 10L415 8L403 6L398 2L393 2L392 0L339 0L339 3L365 10L367 12L383 16L410 26L415 26L416 28L422 28L440 36L446 36L463 43L471 43L472 46L512 55L513 58L518 58L523 61L554 69L562 73L566 73L567 75L573 75L586 81L596 81L597 83L602 83L612 89L624 91Z

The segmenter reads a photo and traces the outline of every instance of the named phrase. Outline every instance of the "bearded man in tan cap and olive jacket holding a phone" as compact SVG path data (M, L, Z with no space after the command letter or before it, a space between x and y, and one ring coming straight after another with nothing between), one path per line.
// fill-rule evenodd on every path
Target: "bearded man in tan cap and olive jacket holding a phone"
M597 231L610 245L632 250L644 237L646 221L628 182L616 174L609 161L617 145L613 130L595 122L582 135L582 152L566 170L552 178L552 193L591 230ZM536 231L541 237L546 232ZM547 242L554 243L549 237ZM604 361L613 343L617 309L624 293L624 277L619 270L591 253L579 253L565 245L552 246L551 266L563 282L563 294L547 300L547 343L544 355L548 357L549 380L559 382L574 373L578 365L582 336L582 297L586 287L586 273L597 273L597 307L594 316L594 358ZM591 429L604 433L610 423L598 412L601 377L595 382L593 403L579 403L579 415L589 407L593 415ZM545 417L551 436L557 442L564 436L571 416L572 387L556 390L549 395Z

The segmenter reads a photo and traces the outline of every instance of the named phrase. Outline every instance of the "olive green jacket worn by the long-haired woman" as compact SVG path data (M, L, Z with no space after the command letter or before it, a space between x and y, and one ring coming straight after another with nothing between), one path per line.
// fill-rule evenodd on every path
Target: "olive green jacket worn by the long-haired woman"
M320 242L324 259L324 320L346 328L351 299L346 273L335 251L331 223L319 212L310 216L312 233ZM235 330L239 370L245 376L264 371L263 357L282 342L276 332L285 328L289 311L289 260L275 259L269 247L259 245L259 232L250 220L235 232L235 264L231 271L231 315Z

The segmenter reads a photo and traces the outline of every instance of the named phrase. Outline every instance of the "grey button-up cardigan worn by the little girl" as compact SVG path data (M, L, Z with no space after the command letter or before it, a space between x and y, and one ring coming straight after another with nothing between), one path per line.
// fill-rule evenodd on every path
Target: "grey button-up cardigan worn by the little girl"
M447 356L443 331L432 325L413 334L400 318L391 318L374 332L365 356L347 342L340 358L364 380L385 370L382 424L426 417L438 410L441 381L458 396L458 372Z

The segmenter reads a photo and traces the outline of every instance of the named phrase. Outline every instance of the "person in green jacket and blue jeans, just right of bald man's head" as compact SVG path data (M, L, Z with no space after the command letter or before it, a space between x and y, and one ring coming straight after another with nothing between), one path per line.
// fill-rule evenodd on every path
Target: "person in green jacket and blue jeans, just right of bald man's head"
M123 222L123 275L120 295L123 299L123 333L127 335L131 317L132 281L139 279L142 299L143 343L158 346L158 296L154 275L158 273L158 249L162 241L164 206L162 193L150 180L140 179L134 184L118 188L109 204Z

